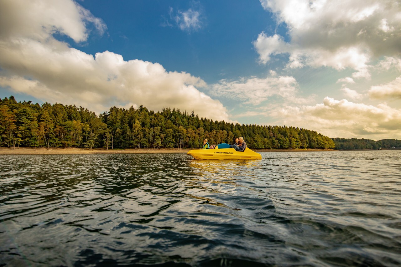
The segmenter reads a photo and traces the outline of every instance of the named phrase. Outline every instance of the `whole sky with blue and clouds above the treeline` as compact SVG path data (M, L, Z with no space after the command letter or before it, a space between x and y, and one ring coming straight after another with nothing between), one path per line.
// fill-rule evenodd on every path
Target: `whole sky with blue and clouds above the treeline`
M0 0L0 97L401 139L397 0Z

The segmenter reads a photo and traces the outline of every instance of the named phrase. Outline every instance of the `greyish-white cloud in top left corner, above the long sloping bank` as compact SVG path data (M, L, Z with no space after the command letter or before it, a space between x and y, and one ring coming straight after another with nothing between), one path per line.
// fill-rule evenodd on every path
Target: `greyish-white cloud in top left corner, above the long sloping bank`
M101 19L71 0L4 0L0 10L1 39L24 36L46 41L60 32L81 42L89 34L86 23L93 23L100 34L107 28Z

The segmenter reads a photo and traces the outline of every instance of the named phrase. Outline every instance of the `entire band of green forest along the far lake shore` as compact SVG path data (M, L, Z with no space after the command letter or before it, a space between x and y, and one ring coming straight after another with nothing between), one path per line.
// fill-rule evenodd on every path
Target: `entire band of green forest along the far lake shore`
M239 136L253 149L401 147L401 140L394 139L329 138L292 126L213 121L179 108L154 112L142 105L111 107L97 116L75 105L17 102L13 96L0 99L0 147L201 148L204 139L209 144L233 144Z

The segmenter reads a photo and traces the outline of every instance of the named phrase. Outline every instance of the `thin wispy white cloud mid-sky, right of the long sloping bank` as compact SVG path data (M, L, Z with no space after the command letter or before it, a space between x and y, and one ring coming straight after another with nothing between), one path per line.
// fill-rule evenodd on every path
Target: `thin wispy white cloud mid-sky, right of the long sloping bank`
M300 97L298 83L294 77L278 76L274 71L266 78L242 77L238 81L220 80L211 86L214 95L242 101L244 104L259 105L269 97L281 97L284 101L304 103Z

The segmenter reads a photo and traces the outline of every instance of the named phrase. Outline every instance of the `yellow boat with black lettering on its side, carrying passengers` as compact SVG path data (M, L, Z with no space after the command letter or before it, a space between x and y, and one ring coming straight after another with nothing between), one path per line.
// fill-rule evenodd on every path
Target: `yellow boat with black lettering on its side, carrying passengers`
M220 146L220 145L219 145ZM244 152L235 151L234 148L195 149L190 150L195 160L260 160L262 156L246 148Z

